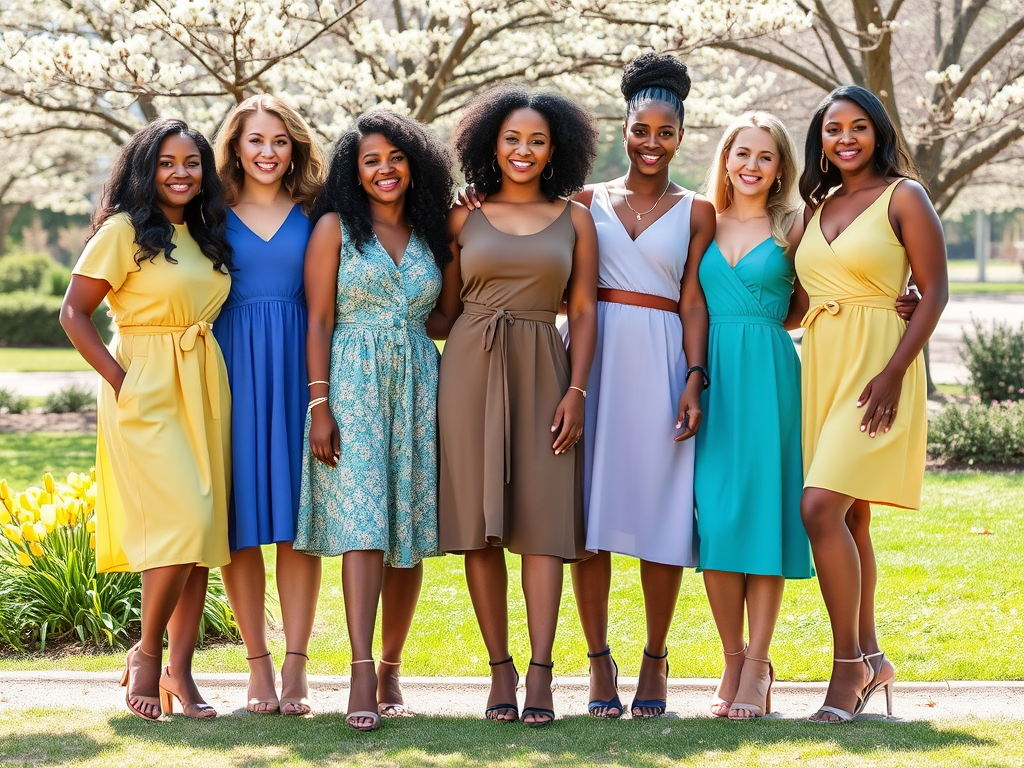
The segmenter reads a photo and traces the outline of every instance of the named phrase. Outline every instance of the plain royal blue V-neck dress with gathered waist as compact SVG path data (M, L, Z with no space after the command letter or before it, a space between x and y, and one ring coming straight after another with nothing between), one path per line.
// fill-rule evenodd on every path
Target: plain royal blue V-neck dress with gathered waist
M213 326L231 386L231 551L295 538L305 423L309 219L298 205L269 241L227 212L237 271Z

